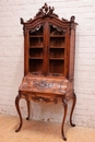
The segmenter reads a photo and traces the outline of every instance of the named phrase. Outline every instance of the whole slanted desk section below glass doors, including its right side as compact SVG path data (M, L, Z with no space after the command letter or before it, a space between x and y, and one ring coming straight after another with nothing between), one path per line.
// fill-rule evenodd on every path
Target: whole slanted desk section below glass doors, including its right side
M19 91L28 93L41 93L43 94L60 94L72 90L72 85L69 80L60 76L45 76L45 75L34 75L28 73L23 78L22 84Z

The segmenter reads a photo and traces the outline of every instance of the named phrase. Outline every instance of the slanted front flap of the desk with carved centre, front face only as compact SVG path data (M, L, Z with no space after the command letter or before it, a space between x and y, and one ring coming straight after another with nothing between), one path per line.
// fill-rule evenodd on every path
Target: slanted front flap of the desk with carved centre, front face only
M41 93L59 93L64 95L67 93L67 86L68 82L67 81L59 81L58 83L48 80L29 80L29 79L24 79L22 85L20 86L20 91L31 91L32 94L36 91Z

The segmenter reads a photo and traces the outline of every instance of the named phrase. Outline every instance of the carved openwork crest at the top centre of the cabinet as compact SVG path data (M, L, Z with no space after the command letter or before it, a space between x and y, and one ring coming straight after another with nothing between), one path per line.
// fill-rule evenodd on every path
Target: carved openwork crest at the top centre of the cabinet
M41 7L39 9L38 13L36 14L36 17L37 16L43 16L44 17L44 16L50 16L50 15L54 15L54 16L58 17L58 15L54 13L54 10L55 10L54 7L52 8L48 7L48 4L45 3L44 7Z

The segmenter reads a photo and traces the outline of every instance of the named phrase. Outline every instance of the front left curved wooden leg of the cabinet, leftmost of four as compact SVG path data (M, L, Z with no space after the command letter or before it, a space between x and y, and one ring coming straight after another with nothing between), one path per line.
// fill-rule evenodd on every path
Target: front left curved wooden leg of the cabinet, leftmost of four
M22 128L22 115L21 115L20 106L19 106L20 99L21 99L21 97L20 97L20 95L17 95L16 98L15 98L15 107L16 107L16 110L17 110L17 114L19 114L19 117L20 117L20 126L19 126L19 128L15 130L15 132L19 132L20 129Z

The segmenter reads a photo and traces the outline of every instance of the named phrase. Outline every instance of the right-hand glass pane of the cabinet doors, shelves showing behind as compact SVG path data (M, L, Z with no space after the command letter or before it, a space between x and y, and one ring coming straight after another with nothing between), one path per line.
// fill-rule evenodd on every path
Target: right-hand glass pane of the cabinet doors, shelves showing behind
M49 73L64 74L66 31L50 25L49 37Z

